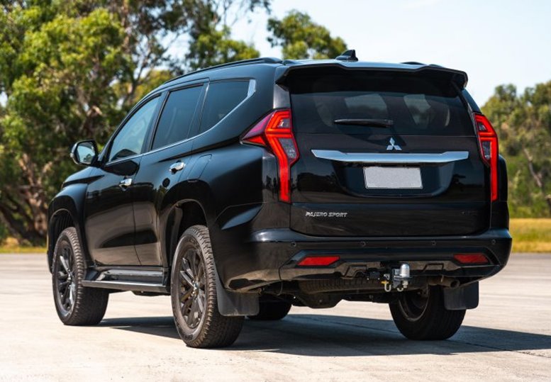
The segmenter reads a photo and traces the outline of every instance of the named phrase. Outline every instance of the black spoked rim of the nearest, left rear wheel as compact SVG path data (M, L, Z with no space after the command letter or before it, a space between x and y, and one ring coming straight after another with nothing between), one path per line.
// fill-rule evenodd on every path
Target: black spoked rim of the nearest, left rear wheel
M201 323L206 306L205 267L197 249L188 249L179 269L179 303L187 327Z

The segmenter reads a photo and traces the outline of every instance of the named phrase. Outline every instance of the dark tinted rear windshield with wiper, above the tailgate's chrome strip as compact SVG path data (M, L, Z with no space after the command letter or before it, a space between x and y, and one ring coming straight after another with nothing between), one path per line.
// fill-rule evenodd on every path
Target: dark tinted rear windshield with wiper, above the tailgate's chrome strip
M445 77L342 69L316 72L297 71L289 78L294 128L299 133L474 135L467 108ZM379 127L370 125L371 120Z

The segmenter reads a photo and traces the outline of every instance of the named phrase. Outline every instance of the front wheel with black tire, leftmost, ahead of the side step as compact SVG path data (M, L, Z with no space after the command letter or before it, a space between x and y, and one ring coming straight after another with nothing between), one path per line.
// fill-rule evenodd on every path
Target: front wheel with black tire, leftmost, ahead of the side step
M96 325L104 318L109 293L82 286L85 274L77 230L69 227L57 237L52 264L55 310L65 325Z

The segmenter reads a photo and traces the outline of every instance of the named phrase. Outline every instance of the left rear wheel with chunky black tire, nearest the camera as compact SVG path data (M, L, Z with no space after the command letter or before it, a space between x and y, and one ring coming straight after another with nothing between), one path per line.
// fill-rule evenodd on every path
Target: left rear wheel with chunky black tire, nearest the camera
M176 329L189 347L227 347L243 327L243 317L218 312L216 277L208 228L189 227L178 242L170 281Z

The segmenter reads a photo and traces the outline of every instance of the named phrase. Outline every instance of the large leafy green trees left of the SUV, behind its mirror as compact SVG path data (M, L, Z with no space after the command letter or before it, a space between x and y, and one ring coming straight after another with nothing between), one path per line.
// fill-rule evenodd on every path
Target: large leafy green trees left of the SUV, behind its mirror
M231 40L223 12L268 6L269 0L1 1L0 94L7 101L0 108L0 220L10 235L43 242L48 201L76 169L67 160L75 140L104 142L141 96L174 74L257 55ZM201 49L170 56L169 46L182 37L191 50Z

